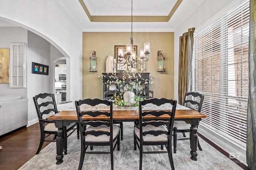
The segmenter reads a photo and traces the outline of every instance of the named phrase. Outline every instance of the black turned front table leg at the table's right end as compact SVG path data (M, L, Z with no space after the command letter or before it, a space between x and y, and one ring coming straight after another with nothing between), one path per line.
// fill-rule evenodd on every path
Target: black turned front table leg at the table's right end
M198 135L197 135L197 128L196 126L198 123L192 121L192 125L190 127L190 158L192 160L197 160L197 142L198 142Z

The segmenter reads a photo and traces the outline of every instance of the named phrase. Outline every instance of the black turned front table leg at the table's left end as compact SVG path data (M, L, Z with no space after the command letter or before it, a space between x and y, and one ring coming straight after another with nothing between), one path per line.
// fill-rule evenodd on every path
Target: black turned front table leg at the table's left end
M58 126L56 125L56 127L58 127ZM64 129L61 125L60 127L58 127L58 133L57 133L57 138L56 138L56 152L57 152L56 164L61 164L63 162L63 160L62 160L63 150L64 150L63 146L64 146Z

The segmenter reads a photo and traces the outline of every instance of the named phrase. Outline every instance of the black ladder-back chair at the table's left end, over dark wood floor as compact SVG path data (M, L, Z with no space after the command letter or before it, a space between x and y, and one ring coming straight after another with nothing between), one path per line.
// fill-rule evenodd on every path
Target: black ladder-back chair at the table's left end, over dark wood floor
M39 119L40 125L40 144L36 154L39 154L40 150L42 149L44 141L46 142L56 142L56 136L58 128L55 127L53 121L47 120L49 113L58 113L57 105L55 102L54 94L44 93L38 94L33 97L34 104L36 106L36 112ZM70 123L68 126L64 126L64 154L67 154L67 138L77 129L77 139L79 139L79 129L78 123ZM67 135L67 132L71 131ZM54 135L52 140L46 139L48 136Z

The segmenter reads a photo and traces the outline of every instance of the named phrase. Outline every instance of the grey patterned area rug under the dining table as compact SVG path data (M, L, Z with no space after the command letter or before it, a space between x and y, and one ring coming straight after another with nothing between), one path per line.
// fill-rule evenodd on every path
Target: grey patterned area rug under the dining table
M182 135L182 134L180 134ZM187 134L189 135L189 134ZM177 153L173 155L176 170L241 170L240 166L232 162L218 150L199 138L202 151L198 150L198 160L190 159L189 140L177 141ZM80 139L76 133L68 137L68 154L64 155L62 164L56 165L56 143L50 143L19 170L76 170L80 160ZM145 150L152 149L146 147ZM154 149L160 149L156 147ZM94 147L94 150L109 150L109 147ZM134 150L133 123L124 122L124 139L120 141L120 150L114 150L114 169L139 169L139 150ZM168 154L143 154L142 169L169 170ZM110 154L86 154L83 170L111 169Z

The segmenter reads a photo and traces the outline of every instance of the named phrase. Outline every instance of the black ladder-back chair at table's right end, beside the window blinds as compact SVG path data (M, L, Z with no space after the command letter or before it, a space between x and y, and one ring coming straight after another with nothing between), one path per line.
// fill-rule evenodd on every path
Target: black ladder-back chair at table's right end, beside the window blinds
M202 105L204 101L204 95L198 92L187 92L185 94L184 106L201 112ZM185 121L174 121L173 125L173 150L174 153L177 151L177 140L187 140L190 138L186 138L186 132L190 132L190 124ZM197 126L198 128L198 126ZM177 133L182 133L184 138L177 139ZM197 146L199 150L202 150L199 141L197 141Z

